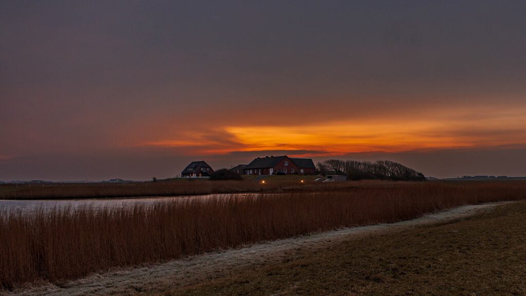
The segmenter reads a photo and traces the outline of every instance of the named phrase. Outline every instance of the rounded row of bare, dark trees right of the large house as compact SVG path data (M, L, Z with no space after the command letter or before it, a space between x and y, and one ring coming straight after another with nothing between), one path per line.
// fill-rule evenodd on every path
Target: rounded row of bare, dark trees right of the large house
M370 162L329 159L318 162L317 166L323 175L336 171L346 174L349 180L426 181L426 176L422 173L388 160Z

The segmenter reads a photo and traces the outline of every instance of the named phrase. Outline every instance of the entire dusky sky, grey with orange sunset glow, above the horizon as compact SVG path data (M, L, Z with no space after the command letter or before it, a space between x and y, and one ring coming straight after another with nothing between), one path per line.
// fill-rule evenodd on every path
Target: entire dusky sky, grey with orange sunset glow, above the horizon
M526 2L0 0L0 180L526 175Z

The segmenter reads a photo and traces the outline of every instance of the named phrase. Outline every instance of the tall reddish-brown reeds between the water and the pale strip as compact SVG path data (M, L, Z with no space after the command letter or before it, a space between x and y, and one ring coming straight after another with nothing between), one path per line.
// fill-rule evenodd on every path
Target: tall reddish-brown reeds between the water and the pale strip
M112 267L526 198L526 182L389 184L348 192L213 196L132 208L3 212L0 286L75 279Z

